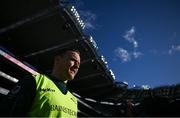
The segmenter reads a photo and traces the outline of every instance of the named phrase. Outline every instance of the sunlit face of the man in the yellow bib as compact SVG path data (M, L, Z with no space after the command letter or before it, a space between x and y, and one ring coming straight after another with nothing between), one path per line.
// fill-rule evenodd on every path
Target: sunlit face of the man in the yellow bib
M80 56L78 52L67 51L63 56L58 56L57 65L59 75L65 80L73 80L80 66Z

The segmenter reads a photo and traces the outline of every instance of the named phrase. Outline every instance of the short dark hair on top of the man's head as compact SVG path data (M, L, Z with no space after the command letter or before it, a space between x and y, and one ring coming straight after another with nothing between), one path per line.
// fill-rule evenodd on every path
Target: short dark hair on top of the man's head
M80 55L78 48L63 48L55 52L55 56L63 56L67 51L75 51Z

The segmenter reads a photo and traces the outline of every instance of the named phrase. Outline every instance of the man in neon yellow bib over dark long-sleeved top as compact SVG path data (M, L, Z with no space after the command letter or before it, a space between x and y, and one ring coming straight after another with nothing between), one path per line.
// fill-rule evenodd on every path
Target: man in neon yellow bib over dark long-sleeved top
M51 75L23 79L4 100L2 116L77 117L77 99L67 90L80 66L80 52L63 49L55 55Z

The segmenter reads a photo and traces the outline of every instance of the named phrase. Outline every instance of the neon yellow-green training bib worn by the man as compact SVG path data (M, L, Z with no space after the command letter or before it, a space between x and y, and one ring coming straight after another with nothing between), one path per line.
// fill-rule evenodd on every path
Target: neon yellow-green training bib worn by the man
M77 99L63 94L45 75L36 75L36 96L29 112L32 117L77 117Z

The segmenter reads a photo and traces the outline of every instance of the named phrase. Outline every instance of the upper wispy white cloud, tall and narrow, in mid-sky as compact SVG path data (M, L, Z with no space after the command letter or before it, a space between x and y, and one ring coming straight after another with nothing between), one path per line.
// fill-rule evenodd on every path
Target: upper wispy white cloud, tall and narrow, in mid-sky
M130 30L128 30L123 36L127 41L133 43L134 48L138 47L138 42L135 40L135 27L132 26Z

